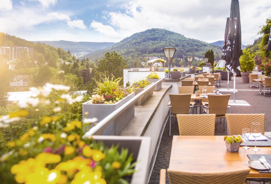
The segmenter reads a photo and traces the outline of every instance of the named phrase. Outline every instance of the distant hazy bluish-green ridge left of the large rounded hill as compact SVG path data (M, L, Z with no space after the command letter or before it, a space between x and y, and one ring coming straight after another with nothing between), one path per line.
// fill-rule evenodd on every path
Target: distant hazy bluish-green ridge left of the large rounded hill
M105 49L114 45L114 42L73 42L73 41L34 41L34 43L41 42L53 47L60 47L64 51L70 50L72 55L82 57L88 53Z

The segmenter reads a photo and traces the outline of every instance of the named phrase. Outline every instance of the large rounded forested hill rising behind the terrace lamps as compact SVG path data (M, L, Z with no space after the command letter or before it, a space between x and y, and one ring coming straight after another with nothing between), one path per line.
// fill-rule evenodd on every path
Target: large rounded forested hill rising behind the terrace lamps
M130 64L140 57L163 57L163 47L177 47L174 57L183 58L193 55L204 57L207 50L214 51L214 58L220 59L222 47L212 45L196 39L184 37L184 35L165 29L152 28L138 32L116 43L114 46L101 51L90 53L84 57L100 59L106 51L117 51Z

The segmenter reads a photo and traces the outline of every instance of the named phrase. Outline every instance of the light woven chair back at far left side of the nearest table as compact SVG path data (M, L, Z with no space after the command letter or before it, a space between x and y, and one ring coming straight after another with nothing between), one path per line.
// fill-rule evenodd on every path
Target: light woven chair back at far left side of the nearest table
M215 135L215 114L177 114L180 135Z

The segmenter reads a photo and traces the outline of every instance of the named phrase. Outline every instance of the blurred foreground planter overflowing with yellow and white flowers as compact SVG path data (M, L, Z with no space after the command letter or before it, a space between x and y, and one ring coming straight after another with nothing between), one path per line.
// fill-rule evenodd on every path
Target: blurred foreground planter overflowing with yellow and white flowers
M96 121L82 123L84 97L48 86L0 117L1 183L147 183L149 138L83 136L85 125Z

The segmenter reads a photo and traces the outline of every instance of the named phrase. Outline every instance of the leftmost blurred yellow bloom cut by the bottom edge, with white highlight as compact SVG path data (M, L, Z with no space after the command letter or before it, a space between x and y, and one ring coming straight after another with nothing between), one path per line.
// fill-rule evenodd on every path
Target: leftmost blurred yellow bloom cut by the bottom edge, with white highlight
M45 167L39 167L34 173L26 177L26 184L56 184L60 179L60 171L53 169L50 170Z

